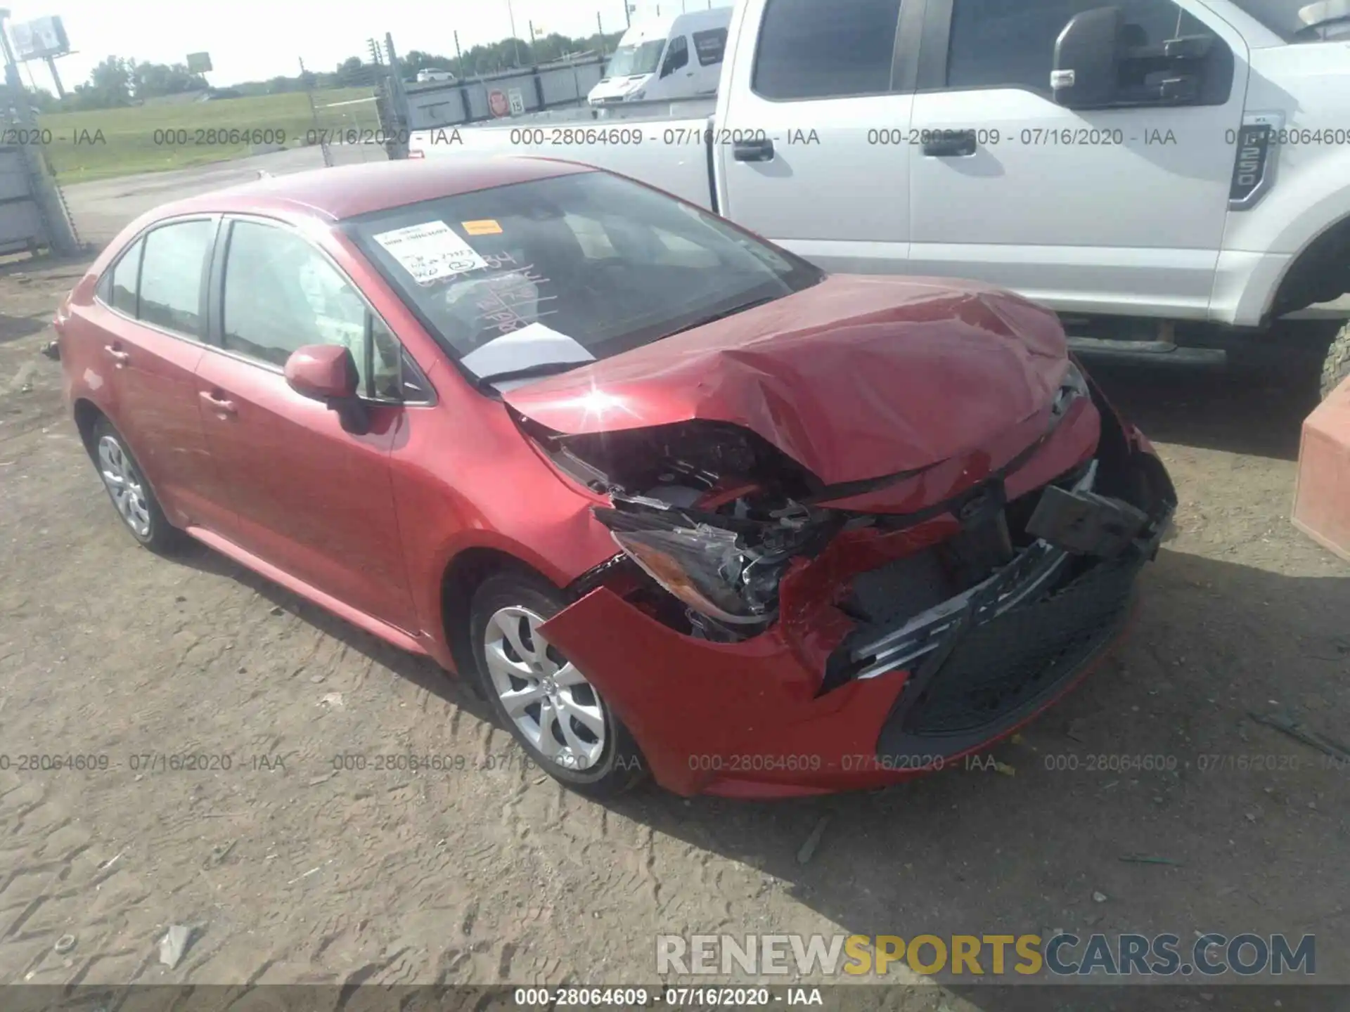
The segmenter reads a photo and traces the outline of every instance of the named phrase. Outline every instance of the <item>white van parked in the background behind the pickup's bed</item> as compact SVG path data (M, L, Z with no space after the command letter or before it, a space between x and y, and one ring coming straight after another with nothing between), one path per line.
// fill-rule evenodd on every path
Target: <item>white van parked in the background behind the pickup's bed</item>
M618 40L587 101L609 105L716 94L730 23L732 8L718 7L634 24Z

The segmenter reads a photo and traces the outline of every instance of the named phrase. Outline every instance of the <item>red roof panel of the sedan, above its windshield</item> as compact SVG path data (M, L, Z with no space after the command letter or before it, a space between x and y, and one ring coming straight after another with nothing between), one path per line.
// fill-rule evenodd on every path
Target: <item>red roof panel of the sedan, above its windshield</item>
M514 182L594 171L547 158L413 158L273 175L188 197L157 209L157 217L192 212L286 209L342 220L437 197Z

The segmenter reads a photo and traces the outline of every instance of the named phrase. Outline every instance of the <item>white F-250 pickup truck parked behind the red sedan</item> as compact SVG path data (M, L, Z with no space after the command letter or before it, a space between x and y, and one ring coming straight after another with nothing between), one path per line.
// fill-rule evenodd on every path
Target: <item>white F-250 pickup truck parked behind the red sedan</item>
M610 169L832 271L1010 287L1080 348L1222 359L1350 290L1350 0L740 0L710 116L409 144L466 152ZM1301 328L1326 390L1342 322Z

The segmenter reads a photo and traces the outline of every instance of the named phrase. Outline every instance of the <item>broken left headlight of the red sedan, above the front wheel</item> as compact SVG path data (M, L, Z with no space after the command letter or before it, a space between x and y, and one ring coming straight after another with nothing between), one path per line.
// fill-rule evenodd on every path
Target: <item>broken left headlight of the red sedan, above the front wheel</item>
M770 618L770 605L747 592L755 559L734 532L699 525L612 533L648 576L694 611L729 625Z

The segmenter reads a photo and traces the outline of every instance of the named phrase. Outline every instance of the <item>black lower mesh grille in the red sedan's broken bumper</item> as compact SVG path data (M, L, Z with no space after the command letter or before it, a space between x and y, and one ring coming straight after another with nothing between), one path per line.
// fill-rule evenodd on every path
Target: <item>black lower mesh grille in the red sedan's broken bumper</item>
M1129 552L1098 563L1054 594L959 633L921 695L900 694L878 753L952 756L1030 716L1119 633L1143 560Z

